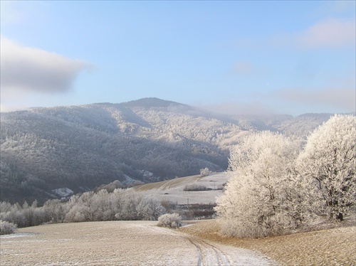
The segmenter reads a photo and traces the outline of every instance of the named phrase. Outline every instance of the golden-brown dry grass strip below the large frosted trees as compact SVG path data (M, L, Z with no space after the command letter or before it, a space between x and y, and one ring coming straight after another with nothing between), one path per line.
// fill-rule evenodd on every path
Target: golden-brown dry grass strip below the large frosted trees
M346 226L262 239L221 236L216 220L181 228L184 233L254 250L281 265L356 265L356 226Z

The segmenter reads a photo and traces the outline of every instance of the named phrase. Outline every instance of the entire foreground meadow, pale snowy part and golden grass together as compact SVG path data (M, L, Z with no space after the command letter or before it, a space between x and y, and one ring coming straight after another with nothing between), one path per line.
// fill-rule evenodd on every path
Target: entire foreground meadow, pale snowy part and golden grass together
M355 265L356 227L242 240L216 220L60 223L2 235L0 265Z

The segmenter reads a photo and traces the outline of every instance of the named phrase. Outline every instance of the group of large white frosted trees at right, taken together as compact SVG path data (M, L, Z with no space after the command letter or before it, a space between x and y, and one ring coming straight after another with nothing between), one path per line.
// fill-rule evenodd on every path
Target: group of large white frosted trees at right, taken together
M320 218L355 212L356 119L335 115L303 147L272 132L251 134L231 150L230 179L216 212L226 235L283 235Z

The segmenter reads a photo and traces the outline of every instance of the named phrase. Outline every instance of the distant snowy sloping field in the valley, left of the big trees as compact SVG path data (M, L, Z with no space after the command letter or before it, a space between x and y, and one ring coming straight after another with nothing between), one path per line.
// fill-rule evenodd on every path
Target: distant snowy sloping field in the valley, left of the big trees
M163 201L172 201L178 204L209 204L215 203L216 197L221 196L222 186L228 180L225 172L210 174L209 176L187 176L168 181L147 183L135 186L137 191L159 198ZM209 191L184 191L185 186L205 186ZM220 188L219 190L216 188Z

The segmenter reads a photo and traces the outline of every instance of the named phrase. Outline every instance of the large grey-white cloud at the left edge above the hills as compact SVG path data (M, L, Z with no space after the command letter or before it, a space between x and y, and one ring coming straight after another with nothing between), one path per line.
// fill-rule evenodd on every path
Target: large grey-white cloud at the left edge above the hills
M66 92L79 73L90 68L83 60L20 46L1 36L2 92Z

